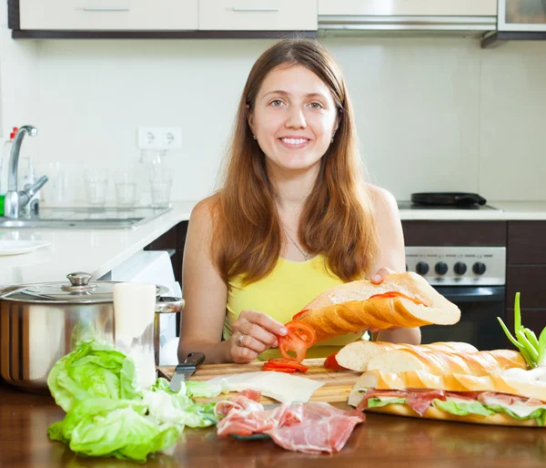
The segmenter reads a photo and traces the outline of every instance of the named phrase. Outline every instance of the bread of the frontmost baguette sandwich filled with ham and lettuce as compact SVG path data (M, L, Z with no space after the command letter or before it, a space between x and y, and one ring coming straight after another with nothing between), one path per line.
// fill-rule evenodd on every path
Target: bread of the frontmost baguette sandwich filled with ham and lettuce
M463 392L466 398L478 398L482 392L485 395L501 395L501 398L510 402L511 397L531 399L532 408L537 403L546 406L546 382L540 379L546 378L546 371L505 371L499 375L491 376L469 376L463 374L434 375L424 371L406 371L400 373L367 371L363 373L349 393L349 405L360 407L369 389L379 391L444 391ZM530 375L531 374L531 375ZM411 389L411 390L409 390ZM471 395L476 395L472 397ZM457 395L450 395L457 396ZM394 397L394 395L393 395ZM521 403L520 403L521 404ZM480 424L511 425L535 427L540 423L537 419L520 420L513 418L508 413L496 412L489 415L467 414L456 415L444 412L439 408L430 405L425 412L414 411L409 404L393 402L381 407L366 408L369 412L382 412L398 414L401 416L423 417L442 421L474 422Z

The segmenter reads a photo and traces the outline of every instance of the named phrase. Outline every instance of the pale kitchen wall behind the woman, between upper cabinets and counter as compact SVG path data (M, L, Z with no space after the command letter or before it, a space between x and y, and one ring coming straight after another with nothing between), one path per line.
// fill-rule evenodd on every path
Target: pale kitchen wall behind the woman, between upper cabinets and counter
M22 151L38 176L49 161L72 164L83 200L83 168L136 167L138 127L180 127L182 148L166 159L172 198L211 193L250 66L273 41L14 41L0 11L2 137L38 128ZM373 182L398 199L461 190L546 200L546 42L321 40L347 78Z

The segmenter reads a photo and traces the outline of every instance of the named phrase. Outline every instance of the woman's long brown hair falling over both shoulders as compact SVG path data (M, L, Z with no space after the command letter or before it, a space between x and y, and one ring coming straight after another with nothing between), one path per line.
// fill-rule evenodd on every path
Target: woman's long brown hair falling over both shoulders
M283 39L266 50L250 70L212 210L213 258L226 282L238 275L243 275L246 283L267 276L281 252L276 188L248 126L248 112L268 73L278 66L293 65L307 67L329 87L339 117L334 141L321 158L319 176L302 209L298 239L309 253L323 254L329 269L346 281L362 278L377 258L376 223L363 183L353 111L343 76L318 41Z

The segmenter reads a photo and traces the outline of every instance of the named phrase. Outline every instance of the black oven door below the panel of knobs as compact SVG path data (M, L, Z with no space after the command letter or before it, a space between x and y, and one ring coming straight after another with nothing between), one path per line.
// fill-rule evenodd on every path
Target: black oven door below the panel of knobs
M421 327L421 343L464 341L480 351L506 348L508 342L497 317L506 323L504 286L435 286L460 309L455 325ZM511 329L511 324L507 324Z

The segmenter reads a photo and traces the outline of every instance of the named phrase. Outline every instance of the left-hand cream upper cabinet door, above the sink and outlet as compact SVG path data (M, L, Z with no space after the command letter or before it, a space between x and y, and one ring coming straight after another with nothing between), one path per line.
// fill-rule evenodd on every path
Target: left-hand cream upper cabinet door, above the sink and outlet
M197 29L198 0L19 0L21 29Z

